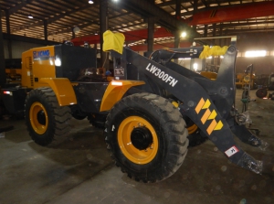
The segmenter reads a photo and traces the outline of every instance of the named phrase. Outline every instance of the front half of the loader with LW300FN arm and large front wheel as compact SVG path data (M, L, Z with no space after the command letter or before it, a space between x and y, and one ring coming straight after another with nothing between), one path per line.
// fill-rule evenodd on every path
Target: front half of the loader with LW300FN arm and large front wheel
M122 172L143 182L172 176L184 162L187 134L194 133L195 126L198 134L209 138L232 163L255 173L262 171L262 162L249 156L233 138L237 135L248 145L267 146L247 129L244 115L234 107L236 38L231 38L229 47L220 48L224 59L212 81L173 62L206 58L211 52L209 47L161 49L148 59L131 48L113 45L120 34L112 34L110 40L109 36L107 31L104 43L109 44L104 49L114 59L111 84L121 90L123 97L113 98L108 107L102 102L101 111L110 110L104 135ZM129 81L143 83L127 89ZM194 136L197 139L198 135Z

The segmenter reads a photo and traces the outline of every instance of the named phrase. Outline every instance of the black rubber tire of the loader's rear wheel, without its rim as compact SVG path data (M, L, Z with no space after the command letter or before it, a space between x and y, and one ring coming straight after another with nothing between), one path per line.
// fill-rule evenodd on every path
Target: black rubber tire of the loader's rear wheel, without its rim
M47 127L45 133L42 134L37 133L30 120L35 117L31 115L30 110L32 105L36 103L41 104L47 112ZM67 139L70 130L70 108L68 106L59 106L55 92L51 88L41 87L27 94L25 115L27 131L38 145L54 146Z

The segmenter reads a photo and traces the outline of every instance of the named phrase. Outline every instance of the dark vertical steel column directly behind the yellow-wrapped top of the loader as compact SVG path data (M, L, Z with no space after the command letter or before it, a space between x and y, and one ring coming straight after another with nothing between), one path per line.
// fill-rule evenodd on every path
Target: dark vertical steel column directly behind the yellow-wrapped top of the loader
M110 60L108 53L102 50L102 46L103 33L109 29L108 6L108 0L100 0L100 67L106 70L110 69Z

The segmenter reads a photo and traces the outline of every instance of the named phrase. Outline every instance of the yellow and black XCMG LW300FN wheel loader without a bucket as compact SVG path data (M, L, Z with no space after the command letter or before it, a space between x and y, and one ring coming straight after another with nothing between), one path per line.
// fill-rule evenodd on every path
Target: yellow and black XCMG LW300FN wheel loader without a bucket
M90 74L96 53L89 48L60 45L23 53L18 90L26 92L26 126L38 145L58 145L68 135L71 115L88 116L104 127L116 165L137 181L172 176L184 162L188 138L209 138L232 163L261 172L262 162L233 139L235 134L248 145L266 145L234 107L235 38L211 81L174 63L205 56L208 47L161 49L146 58L123 48L122 34L107 31L104 37L103 49L114 59L113 81Z

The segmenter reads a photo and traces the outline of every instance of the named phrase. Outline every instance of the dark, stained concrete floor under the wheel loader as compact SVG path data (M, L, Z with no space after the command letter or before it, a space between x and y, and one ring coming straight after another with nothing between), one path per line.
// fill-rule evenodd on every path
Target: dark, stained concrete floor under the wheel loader
M237 108L241 112L237 90ZM256 98L251 91L251 98ZM248 106L252 127L269 148L240 144L264 162L261 175L230 164L210 141L190 148L183 166L162 182L138 183L113 165L102 132L87 121L73 121L68 141L57 148L36 145L24 121L0 138L1 204L97 203L274 203L274 101ZM237 140L238 141L238 140Z

